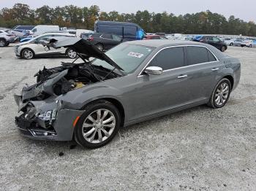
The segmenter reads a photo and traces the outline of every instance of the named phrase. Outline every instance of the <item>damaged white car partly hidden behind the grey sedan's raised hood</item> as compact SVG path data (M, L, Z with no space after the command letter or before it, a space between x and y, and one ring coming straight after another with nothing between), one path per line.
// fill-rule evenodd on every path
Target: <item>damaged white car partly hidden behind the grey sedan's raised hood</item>
M22 42L15 46L15 55L20 58L32 59L36 56L67 55L68 58L76 58L77 53L70 48L53 48L45 46L44 42L53 38L75 38L73 34L48 33Z

